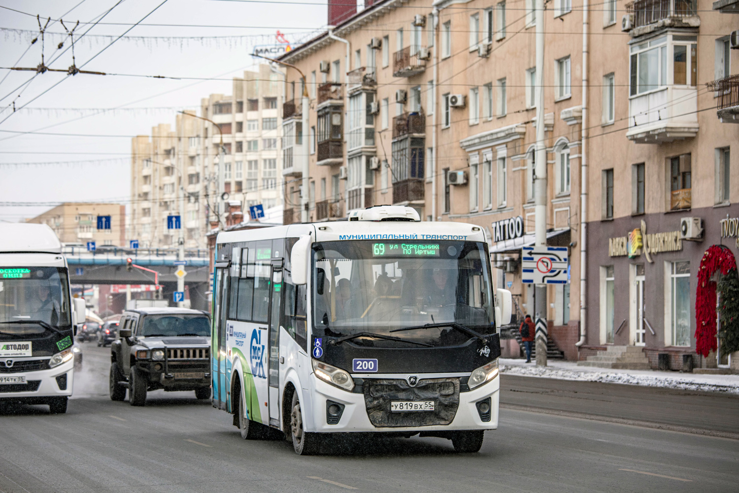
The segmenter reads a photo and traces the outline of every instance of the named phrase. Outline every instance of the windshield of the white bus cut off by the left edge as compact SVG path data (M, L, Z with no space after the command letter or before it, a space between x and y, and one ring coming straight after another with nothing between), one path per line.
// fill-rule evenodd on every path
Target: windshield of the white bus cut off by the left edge
M4 334L26 336L47 332L43 324L32 321L62 330L72 327L67 269L0 267L0 339Z

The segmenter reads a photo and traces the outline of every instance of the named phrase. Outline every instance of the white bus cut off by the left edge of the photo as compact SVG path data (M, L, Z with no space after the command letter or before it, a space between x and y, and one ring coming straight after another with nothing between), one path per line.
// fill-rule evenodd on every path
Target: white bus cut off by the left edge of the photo
M0 223L0 401L67 412L73 338L84 299L69 291L67 259L47 225Z

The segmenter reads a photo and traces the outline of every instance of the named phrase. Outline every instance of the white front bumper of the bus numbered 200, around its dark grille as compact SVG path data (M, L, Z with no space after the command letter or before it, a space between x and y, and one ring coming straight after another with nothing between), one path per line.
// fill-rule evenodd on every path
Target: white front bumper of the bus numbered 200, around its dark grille
M419 380L423 375L418 375ZM315 393L312 403L310 432L436 432L473 429L497 429L498 407L500 402L500 376L488 383L467 392L459 392L459 405L449 424L430 424L423 426L375 426L367 415L364 394L347 392L338 387L310 376ZM478 404L489 398L489 419L483 421ZM341 404L341 417L338 423L329 424L328 407ZM414 413L416 414L416 413ZM487 418L487 416L486 416ZM335 419L333 420L335 421Z

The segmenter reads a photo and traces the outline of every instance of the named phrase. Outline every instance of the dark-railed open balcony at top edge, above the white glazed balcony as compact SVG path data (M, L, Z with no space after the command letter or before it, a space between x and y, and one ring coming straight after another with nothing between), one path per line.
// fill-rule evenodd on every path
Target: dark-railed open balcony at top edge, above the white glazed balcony
M697 0L636 0L626 4L633 15L632 38L662 27L698 27Z

